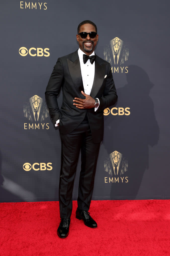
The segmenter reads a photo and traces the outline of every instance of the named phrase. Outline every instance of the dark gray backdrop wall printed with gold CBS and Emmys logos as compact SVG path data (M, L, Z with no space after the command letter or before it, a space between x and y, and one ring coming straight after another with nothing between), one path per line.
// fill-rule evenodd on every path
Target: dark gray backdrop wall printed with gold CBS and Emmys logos
M104 110L93 199L166 199L169 192L169 1L1 3L1 202L58 200L61 142L44 92L77 26L98 27L96 54L118 94ZM62 92L59 95L62 101ZM80 161L73 199L77 199Z

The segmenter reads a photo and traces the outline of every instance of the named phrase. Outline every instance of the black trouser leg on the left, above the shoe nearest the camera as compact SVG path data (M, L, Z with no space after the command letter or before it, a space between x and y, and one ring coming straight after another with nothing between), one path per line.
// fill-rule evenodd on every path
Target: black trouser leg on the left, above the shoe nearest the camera
M60 218L70 218L72 212L72 192L82 137L88 130L83 121L69 134L61 135L61 170L59 182Z

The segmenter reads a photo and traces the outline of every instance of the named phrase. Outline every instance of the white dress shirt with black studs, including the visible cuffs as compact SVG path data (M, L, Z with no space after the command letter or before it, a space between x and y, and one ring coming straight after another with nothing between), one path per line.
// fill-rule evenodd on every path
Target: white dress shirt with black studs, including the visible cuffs
M90 95L91 88L93 86L94 76L95 76L95 61L93 62L93 64L91 64L90 60L88 59L87 62L84 64L83 54L84 52L79 48L78 55L80 60L80 68L82 73L84 92ZM92 55L95 55L94 51L89 56L92 56ZM99 99L98 99L98 102L99 102ZM98 109L98 107L95 108L95 111ZM58 126L59 121L60 121L59 119L56 121L55 126Z

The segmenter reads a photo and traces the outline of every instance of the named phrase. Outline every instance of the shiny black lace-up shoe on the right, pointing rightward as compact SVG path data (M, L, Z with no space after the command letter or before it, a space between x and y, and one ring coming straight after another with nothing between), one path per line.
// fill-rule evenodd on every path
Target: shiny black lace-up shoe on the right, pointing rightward
M83 219L84 224L89 228L97 228L97 223L90 216L90 213L86 210L79 210L77 208L75 217L79 220Z

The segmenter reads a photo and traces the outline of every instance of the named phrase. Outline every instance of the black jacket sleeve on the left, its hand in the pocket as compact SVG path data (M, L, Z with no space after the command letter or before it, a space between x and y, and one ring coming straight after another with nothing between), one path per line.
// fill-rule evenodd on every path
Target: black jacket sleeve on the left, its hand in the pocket
M56 65L47 84L45 99L49 109L49 114L54 124L60 119L60 109L58 107L57 96L64 81L62 61L58 58Z

